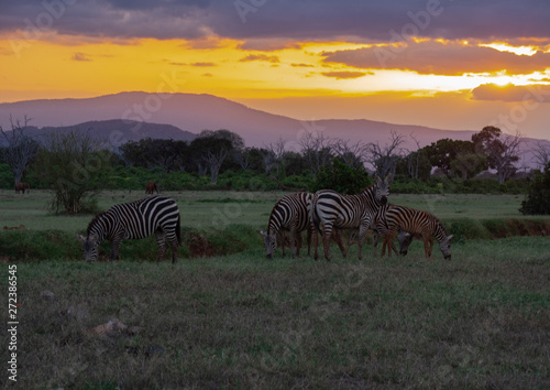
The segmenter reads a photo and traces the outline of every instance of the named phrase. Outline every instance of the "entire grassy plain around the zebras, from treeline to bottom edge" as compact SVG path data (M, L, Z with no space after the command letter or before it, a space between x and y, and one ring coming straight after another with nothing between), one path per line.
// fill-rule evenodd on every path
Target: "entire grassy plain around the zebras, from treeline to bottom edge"
M0 228L25 226L0 231L2 313L12 264L21 304L18 381L2 345L2 387L550 387L550 221L521 217L522 196L392 194L455 234L452 260L437 243L425 259L419 241L373 256L369 234L363 260L334 246L328 262L304 245L265 258L256 230L283 193L165 195L182 213L175 266L155 262L154 238L87 263L76 234L91 215L48 212L47 192L0 191ZM98 207L143 196L103 192ZM95 332L110 321L125 328Z

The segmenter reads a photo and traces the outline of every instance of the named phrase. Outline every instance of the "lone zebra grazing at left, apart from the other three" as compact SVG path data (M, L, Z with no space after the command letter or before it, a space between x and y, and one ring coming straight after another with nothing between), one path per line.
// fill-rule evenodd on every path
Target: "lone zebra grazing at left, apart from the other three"
M98 257L98 246L105 239L111 243L111 260L120 259L122 239L141 239L155 234L158 245L158 261L166 251L165 239L172 247L172 262L177 261L180 237L180 216L176 202L165 196L114 205L97 215L89 223L87 235L77 235L82 242L84 257L88 261Z

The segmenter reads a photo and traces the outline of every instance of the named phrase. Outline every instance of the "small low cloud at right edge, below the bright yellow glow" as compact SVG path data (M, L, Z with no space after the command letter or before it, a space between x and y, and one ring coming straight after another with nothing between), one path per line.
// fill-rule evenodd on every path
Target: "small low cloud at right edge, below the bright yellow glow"
M474 100L501 100L501 101L532 101L550 102L550 86L497 86L484 84L472 90Z

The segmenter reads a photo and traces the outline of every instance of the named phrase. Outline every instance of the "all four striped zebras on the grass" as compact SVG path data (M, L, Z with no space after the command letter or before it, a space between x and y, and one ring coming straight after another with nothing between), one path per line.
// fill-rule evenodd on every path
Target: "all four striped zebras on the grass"
M384 238L382 256L386 249L388 256L398 232L400 253L406 254L413 237L421 237L425 254L428 259L433 247L432 236L446 260L451 259L451 239L441 221L422 210L404 206L389 205L389 176L376 178L376 183L363 188L355 195L343 195L332 189L321 189L315 194L296 193L277 201L270 215L264 237L265 252L273 258L277 242L285 253L285 231L290 234L292 257L299 256L301 232L308 235L308 254L314 245L315 260L318 259L318 232L321 234L324 258L330 260L330 239L333 238L345 258L356 235L359 259L363 257L363 242L369 229L374 231L374 254L378 237ZM352 230L348 246L342 243L342 230ZM98 258L98 246L103 240L111 242L111 260L120 258L120 245L123 239L140 239L155 234L158 246L157 261L162 261L166 251L166 240L172 247L172 262L177 261L180 239L180 215L173 199L166 196L150 196L144 199L112 206L106 213L97 215L88 225L86 236L77 235L82 243L86 260Z

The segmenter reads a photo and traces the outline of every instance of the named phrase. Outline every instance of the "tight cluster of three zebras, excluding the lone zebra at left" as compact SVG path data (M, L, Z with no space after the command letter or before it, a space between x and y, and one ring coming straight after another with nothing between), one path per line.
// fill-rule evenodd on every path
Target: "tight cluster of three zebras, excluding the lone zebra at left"
M358 231L359 259L363 257L363 241L369 229L374 231L374 254L378 237L384 238L382 256L386 248L388 256L394 246L394 237L398 234L399 252L407 254L414 237L420 237L425 246L425 256L428 259L433 248L432 236L439 242L439 248L446 260L451 260L452 235L448 235L441 221L433 215L404 206L389 205L388 178L376 178L376 184L365 187L355 195L343 195L332 189L321 189L315 194L296 193L285 195L277 201L270 215L267 231L260 231L264 236L267 258L272 258L277 247L277 240L283 243L284 231L290 232L290 250L293 258L299 254L301 243L300 232L308 231L308 254L312 237L315 254L317 253L317 234L322 237L324 259L330 260L330 239L333 238L345 258L354 235L350 236L348 247L344 248L341 230ZM298 250L295 251L295 247Z

